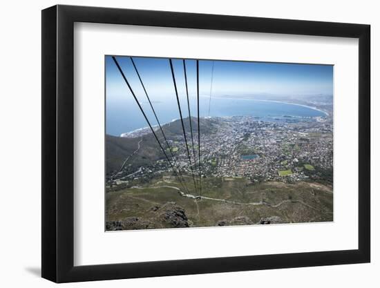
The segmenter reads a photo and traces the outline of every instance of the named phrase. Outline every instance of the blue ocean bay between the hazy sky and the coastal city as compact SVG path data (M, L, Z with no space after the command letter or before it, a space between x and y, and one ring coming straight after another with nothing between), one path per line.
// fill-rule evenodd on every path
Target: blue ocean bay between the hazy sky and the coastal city
M156 125L155 117L148 102L140 102L146 116L152 125ZM179 119L180 113L176 99L166 99L165 101L153 102L155 113L161 124ZM180 100L182 117L189 117L186 99ZM190 113L192 117L197 116L196 98L190 99ZM200 97L200 117L222 117L222 116L243 116L251 115L263 119L273 119L283 116L294 117L316 117L324 116L321 111L317 111L305 106L287 104L281 102L266 102L251 99L230 99L212 97ZM117 102L106 102L106 133L108 135L120 136L122 133L135 131L138 128L148 126L140 108L135 100L131 98L119 99Z

